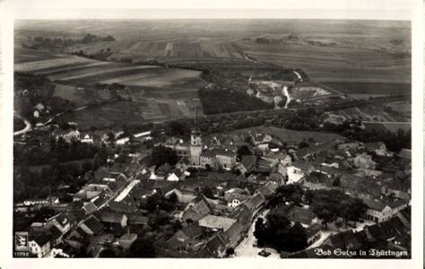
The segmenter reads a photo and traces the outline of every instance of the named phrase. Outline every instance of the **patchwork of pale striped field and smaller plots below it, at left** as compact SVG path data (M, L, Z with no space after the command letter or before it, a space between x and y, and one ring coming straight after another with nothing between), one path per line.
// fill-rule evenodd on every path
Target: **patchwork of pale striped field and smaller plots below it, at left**
M62 54L16 63L15 71L47 76L53 82L53 91L48 96L73 101L76 107L108 101L100 107L74 111L59 118L76 121L82 129L195 115L195 108L201 106L197 90L205 84L199 78L199 71L101 62ZM114 82L127 86L126 91L117 94L130 101L110 103L115 97L97 86Z

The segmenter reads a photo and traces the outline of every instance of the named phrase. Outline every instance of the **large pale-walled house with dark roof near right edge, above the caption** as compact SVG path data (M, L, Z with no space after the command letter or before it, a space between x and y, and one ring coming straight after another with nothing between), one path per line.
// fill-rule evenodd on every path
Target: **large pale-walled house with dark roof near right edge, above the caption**
M409 203L404 200L384 203L383 201L363 199L363 202L368 206L364 218L366 220L376 221L377 223L391 219L396 213L409 205Z

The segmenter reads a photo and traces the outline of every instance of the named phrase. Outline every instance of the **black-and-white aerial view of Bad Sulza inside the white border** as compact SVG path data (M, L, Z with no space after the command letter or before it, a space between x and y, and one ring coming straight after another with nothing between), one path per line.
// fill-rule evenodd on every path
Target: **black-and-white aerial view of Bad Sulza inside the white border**
M411 21L16 20L13 39L10 256L412 258Z

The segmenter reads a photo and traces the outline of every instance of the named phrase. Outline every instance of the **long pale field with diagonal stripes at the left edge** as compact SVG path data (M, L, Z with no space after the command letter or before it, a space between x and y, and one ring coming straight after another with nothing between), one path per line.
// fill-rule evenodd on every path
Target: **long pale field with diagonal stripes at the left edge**
M201 72L156 65L131 65L100 62L79 56L65 56L15 65L15 71L43 74L55 81L121 83L129 86L175 87L176 90L198 89L205 82Z

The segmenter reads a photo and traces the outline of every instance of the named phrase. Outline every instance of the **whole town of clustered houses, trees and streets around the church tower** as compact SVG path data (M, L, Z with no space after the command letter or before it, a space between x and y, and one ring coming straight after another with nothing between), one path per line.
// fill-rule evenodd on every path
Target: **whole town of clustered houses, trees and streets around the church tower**
M31 256L409 249L410 150L316 137L297 143L263 128L204 136L196 122L188 135L160 130L124 140L122 129L67 127L56 126L50 147L101 144L103 153L80 171L81 187L64 178L60 197L49 187L48 196L15 204L15 217L29 224Z

